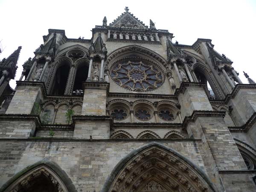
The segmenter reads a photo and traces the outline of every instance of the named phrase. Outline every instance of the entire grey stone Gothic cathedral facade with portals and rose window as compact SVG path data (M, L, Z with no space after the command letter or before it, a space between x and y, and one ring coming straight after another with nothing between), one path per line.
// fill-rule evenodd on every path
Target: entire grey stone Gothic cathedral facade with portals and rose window
M256 84L128 7L0 63L0 192L255 192Z

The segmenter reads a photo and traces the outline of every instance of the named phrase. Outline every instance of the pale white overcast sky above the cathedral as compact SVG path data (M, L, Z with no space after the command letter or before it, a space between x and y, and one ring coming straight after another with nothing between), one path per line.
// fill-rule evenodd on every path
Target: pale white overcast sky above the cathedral
M67 38L90 39L95 25L116 19L125 6L149 26L168 29L179 44L192 45L197 38L212 39L214 49L233 61L240 79L243 70L256 81L256 0L0 0L0 59L22 46L16 80L22 64L34 57L48 29L64 29ZM11 81L15 87L16 82Z

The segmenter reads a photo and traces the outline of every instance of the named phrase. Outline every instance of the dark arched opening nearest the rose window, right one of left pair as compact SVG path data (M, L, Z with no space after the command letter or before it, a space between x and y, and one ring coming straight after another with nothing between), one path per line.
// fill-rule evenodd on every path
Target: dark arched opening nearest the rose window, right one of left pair
M87 67L87 65L81 65L80 67L77 68L75 84L73 87L73 95L83 94L82 82L86 81L88 77L88 70L89 70L89 67Z

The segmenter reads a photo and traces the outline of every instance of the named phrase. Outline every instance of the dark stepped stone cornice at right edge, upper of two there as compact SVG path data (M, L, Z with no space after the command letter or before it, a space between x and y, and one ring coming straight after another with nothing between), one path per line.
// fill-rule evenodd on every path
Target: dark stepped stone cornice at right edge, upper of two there
M230 99L234 99L240 89L256 89L256 84L236 84L232 93L227 94L223 100L209 100L212 105L227 105Z

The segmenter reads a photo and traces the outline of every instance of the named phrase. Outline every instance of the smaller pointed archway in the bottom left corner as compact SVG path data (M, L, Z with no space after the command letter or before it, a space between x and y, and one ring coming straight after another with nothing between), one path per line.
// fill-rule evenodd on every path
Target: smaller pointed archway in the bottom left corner
M48 159L26 167L0 189L1 192L77 192L68 175Z

